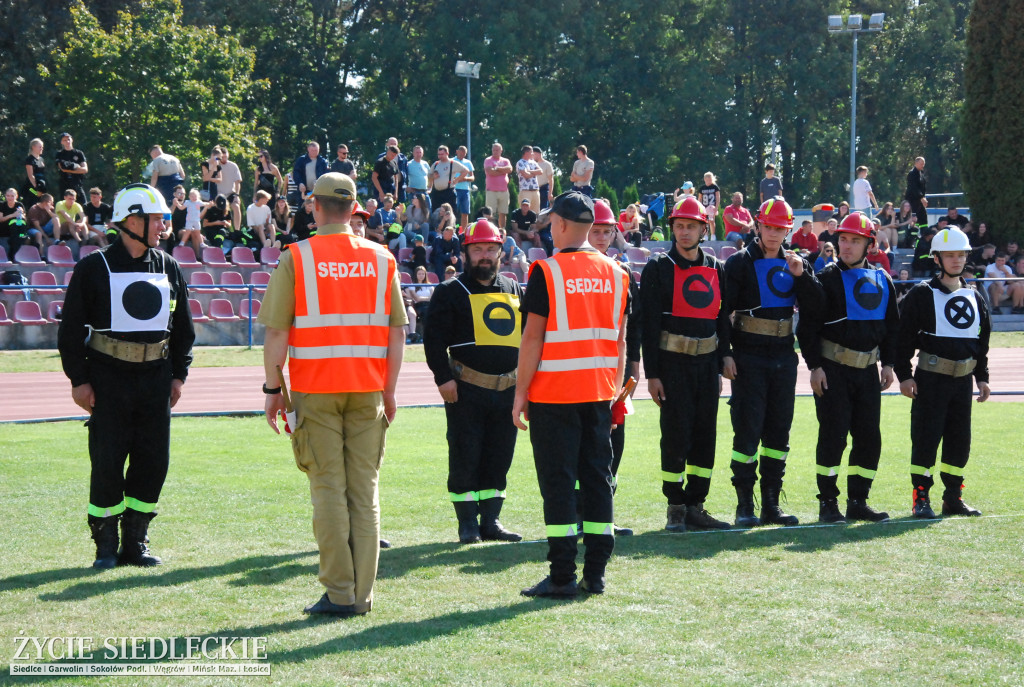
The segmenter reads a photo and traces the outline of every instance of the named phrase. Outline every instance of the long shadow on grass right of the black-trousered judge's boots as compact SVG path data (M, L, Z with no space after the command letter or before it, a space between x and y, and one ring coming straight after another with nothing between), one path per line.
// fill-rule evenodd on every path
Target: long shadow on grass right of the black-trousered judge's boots
M888 522L848 525L756 527L728 531L644 532L615 541L615 555L630 558L671 556L686 560L713 558L718 554L784 545L795 552L827 551L847 544L899 536L930 527L940 520L913 517L893 518Z

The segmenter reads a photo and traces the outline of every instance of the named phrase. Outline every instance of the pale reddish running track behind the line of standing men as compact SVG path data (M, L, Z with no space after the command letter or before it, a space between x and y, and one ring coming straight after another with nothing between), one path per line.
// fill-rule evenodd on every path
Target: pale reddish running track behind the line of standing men
M1024 401L1024 348L993 348L989 354L993 400ZM810 373L801 363L797 393L811 392ZM252 413L263 410L263 371L259 368L193 368L175 415ZM71 400L61 373L0 373L0 422L83 417ZM1011 394L1002 395L1006 392ZM723 394L729 393L724 380ZM440 396L425 362L407 362L398 380L399 405L439 404ZM641 380L636 398L650 398Z

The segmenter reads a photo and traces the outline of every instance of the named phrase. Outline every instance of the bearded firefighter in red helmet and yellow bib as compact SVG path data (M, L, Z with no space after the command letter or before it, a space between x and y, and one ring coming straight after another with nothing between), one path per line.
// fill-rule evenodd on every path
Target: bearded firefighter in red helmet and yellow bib
M498 273L502 239L486 219L469 227L462 247L466 271L434 289L423 330L447 417L449 496L463 544L518 542L522 536L505 529L498 515L515 452L522 288Z

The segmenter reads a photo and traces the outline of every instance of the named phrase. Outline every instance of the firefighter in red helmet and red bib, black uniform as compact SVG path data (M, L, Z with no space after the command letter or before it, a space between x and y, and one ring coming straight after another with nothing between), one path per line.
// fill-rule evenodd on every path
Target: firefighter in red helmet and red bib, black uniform
M708 214L699 201L681 200L669 222L672 248L653 256L640 277L644 373L662 409L666 529L728 529L703 507L715 466L722 354L729 349L725 272L721 261L700 250Z

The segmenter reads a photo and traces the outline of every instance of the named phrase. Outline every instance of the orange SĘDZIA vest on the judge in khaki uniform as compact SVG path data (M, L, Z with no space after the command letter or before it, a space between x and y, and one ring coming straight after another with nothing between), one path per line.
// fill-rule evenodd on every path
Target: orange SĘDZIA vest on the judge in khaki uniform
M394 256L351 233L289 246L295 321L288 334L292 389L381 391L387 374Z

